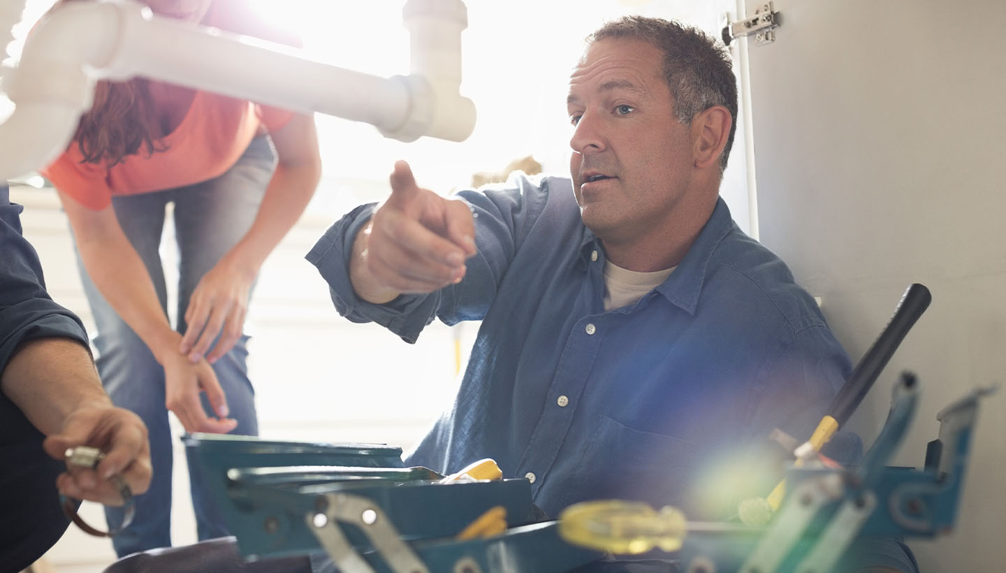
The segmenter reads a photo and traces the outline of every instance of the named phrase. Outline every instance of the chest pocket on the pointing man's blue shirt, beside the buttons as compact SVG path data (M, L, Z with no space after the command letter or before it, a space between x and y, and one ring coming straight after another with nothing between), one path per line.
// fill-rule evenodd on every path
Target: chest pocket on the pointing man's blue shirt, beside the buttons
M691 442L630 428L599 416L563 506L586 499L632 499L678 505L692 484Z

